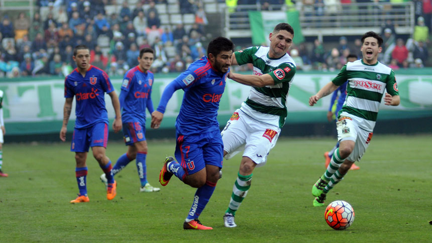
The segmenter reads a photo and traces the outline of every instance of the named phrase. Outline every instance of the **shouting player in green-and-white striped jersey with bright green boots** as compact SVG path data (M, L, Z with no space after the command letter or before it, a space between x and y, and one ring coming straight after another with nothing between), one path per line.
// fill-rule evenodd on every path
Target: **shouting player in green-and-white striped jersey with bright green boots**
M336 78L309 98L309 105L312 106L348 80L347 98L336 123L340 146L326 172L312 186L312 195L316 197L313 206L323 206L327 193L364 155L372 139L383 96L386 105L400 103L393 70L378 62L382 42L382 38L372 31L364 34L361 47L363 59L348 62ZM387 93L384 94L385 90Z

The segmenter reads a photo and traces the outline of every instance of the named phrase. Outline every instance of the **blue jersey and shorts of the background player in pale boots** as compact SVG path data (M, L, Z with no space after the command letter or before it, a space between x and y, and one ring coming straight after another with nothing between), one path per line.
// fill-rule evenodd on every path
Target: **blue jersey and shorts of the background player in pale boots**
M126 145L146 140L146 108L150 114L154 111L151 98L153 80L153 73L143 72L139 66L130 69L123 78L120 107Z

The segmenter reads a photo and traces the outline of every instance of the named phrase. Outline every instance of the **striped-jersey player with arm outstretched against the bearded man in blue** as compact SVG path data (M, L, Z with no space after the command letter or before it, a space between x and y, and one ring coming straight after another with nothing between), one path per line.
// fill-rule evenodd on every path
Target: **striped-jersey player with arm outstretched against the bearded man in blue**
M250 47L233 55L232 65L252 63L254 75L230 72L228 77L251 87L249 97L237 109L222 131L224 157L230 159L244 148L230 204L224 215L226 227L236 227L234 216L251 186L252 171L267 161L276 145L288 113L286 101L296 67L287 54L294 30L276 25L269 34L269 47ZM243 147L244 145L244 147Z

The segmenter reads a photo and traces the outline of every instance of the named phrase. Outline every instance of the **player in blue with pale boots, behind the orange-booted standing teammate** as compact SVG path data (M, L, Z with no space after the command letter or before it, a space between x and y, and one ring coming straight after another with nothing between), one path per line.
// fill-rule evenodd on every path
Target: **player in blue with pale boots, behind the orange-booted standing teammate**
M138 57L139 65L128 70L123 78L120 91L120 109L122 111L123 136L128 151L120 156L113 167L116 175L129 162L136 159L138 176L140 177L140 192L156 192L160 188L153 187L147 182L147 141L146 141L146 108L150 114L154 111L151 98L153 73L149 71L154 59L151 48L143 48ZM107 185L105 174L100 180Z

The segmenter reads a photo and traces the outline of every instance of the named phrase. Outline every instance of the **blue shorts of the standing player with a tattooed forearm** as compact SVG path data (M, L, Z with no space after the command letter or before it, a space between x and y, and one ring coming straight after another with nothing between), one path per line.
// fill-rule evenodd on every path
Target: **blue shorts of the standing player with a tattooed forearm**
M89 147L100 146L106 148L108 142L108 124L96 123L87 128L73 130L72 152L88 152Z

